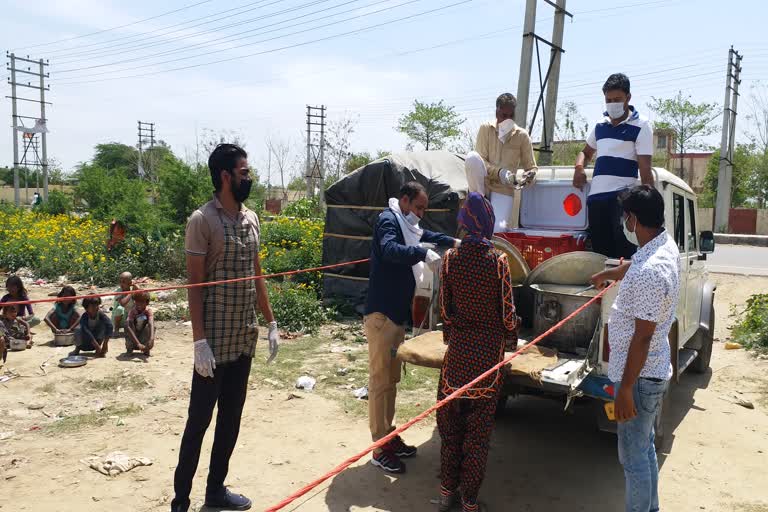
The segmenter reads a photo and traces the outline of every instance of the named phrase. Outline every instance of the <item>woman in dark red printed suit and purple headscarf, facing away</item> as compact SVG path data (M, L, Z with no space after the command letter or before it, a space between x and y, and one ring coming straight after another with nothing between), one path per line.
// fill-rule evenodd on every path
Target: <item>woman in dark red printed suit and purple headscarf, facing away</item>
M505 340L517 329L509 263L490 242L494 220L490 203L470 193L459 212L465 236L443 259L440 307L448 350L438 400L499 363ZM437 411L441 512L450 510L459 494L464 512L479 510L477 496L501 383L496 372Z

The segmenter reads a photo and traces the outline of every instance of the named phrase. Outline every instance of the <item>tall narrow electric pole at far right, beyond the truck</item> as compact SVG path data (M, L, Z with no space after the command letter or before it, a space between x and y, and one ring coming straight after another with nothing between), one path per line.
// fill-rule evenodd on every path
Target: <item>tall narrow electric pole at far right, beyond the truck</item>
M736 107L741 83L741 59L731 46L728 50L728 71L725 76L723 101L723 132L720 140L720 168L717 173L717 201L715 204L715 231L728 232L731 211L731 182L733 180L733 150L736 142Z

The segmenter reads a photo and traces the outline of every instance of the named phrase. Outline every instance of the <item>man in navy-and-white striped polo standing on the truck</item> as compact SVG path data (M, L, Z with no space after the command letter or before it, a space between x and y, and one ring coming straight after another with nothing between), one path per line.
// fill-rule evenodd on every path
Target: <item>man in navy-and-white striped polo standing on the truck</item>
M630 258L637 245L627 240L622 226L618 195L637 184L653 186L651 158L653 132L648 119L629 104L629 78L623 73L608 77L603 85L605 114L587 137L576 157L573 186L587 184L584 166L597 153L595 171L587 198L592 250L609 258Z

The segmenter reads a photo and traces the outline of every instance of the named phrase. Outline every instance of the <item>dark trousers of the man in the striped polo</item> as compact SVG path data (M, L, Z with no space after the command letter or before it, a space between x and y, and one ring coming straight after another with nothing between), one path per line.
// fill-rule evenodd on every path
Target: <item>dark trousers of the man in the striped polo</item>
M617 197L589 201L592 250L609 258L629 259L637 246L624 236L624 212Z

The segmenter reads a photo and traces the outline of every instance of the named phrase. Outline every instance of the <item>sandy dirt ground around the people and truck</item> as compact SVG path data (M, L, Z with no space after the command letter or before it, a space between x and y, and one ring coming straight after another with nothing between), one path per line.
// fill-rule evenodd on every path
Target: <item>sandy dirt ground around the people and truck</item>
M660 457L661 496L671 511L768 511L768 361L726 351L731 306L767 292L768 278L715 275L717 336L712 371L684 375L674 388L666 446ZM33 286L33 298L53 287ZM37 312L44 311L43 306ZM114 340L106 359L57 366L68 348L36 345L9 353L0 375L0 510L95 512L168 510L192 372L191 328L163 322L152 357L122 355ZM367 446L365 345L355 326L320 337L286 340L276 365L265 366L260 344L229 485L264 510ZM47 364L44 364L47 363ZM434 372L408 369L401 418L434 400ZM292 389L300 375L318 378L314 392ZM754 410L735 403L752 402ZM211 436L193 490L200 510ZM401 477L366 461L351 467L285 510L429 511L438 488L439 436L433 421L406 436L420 456ZM106 477L80 461L122 451L153 464ZM499 418L481 499L490 511L618 511L623 473L615 436L597 431L592 410L563 414L558 402L511 400ZM204 508L202 509L204 510Z

